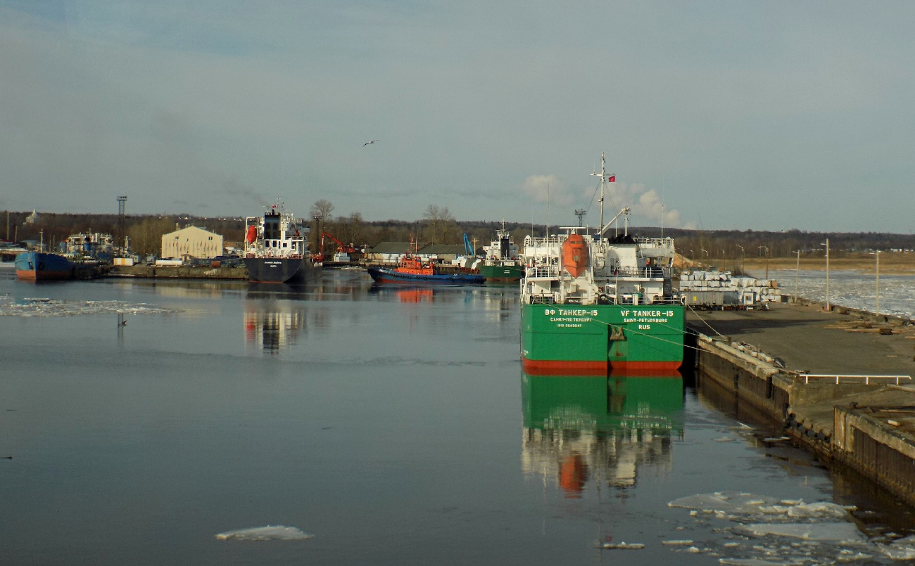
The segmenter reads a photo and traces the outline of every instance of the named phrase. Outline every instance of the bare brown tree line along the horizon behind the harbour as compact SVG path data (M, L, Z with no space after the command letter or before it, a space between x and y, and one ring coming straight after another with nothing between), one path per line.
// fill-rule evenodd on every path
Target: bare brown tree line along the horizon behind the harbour
M458 220L447 208L429 205L423 219L407 220L365 220L360 212L346 216L334 216L334 205L326 199L315 202L310 210L310 219L304 221L311 227L311 249L317 250L320 235L327 231L335 238L357 248L374 246L382 241L408 241L412 238L422 242L459 244L466 233L478 245L488 244L501 229L501 222ZM45 243L50 246L66 239L70 234L86 232L117 233L116 214L68 214L40 213L38 220L27 223L30 212L9 212L9 240L38 240L44 230ZM0 212L0 236L5 237L6 211ZM141 254L155 254L161 251L162 235L176 227L194 225L221 234L227 244L241 242L244 219L205 218L188 215L128 215L124 219L125 235L131 248ZM506 222L515 242L521 243L532 233L543 236L543 224L532 225L520 222ZM551 227L555 233L558 227ZM657 227L631 228L633 234L645 237L661 236ZM830 239L831 252L838 255L868 250L913 250L915 236L887 232L808 232L802 230L684 230L664 229L665 237L677 240L677 251L696 260L735 260L754 256L771 258L792 257L794 251L803 254L822 253L823 242ZM333 251L337 244L325 241L325 251Z

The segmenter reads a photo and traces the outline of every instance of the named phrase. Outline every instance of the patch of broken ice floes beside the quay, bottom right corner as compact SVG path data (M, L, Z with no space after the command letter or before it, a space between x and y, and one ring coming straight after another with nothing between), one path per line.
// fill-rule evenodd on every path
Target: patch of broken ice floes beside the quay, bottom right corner
M709 529L702 545L664 540L673 552L702 552L732 566L888 564L915 560L915 536L869 539L849 511L830 501L804 503L751 493L699 494L668 507L689 510L696 526ZM714 534L713 534L714 533ZM689 540L692 542L692 540ZM702 546L703 548L699 548Z

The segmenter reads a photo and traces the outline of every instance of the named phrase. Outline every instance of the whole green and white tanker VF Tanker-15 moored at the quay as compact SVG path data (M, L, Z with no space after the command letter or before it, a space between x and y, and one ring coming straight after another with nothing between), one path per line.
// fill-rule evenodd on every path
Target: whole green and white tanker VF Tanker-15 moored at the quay
M603 189L608 177L601 175ZM680 368L684 305L671 284L673 239L633 238L629 212L623 208L599 230L565 228L524 240L526 373L647 375ZM616 233L608 236L614 223Z

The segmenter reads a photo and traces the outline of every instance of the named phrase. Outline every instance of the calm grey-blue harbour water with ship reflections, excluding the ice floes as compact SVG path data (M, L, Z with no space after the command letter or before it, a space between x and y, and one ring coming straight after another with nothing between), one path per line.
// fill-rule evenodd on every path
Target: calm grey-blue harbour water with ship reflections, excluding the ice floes
M32 298L167 312L23 316ZM4 564L717 564L660 541L720 538L667 502L722 490L891 520L854 480L747 433L727 396L523 376L514 286L36 285L7 269L11 304L27 310L0 316ZM315 537L215 538L266 525ZM623 540L647 546L597 549Z

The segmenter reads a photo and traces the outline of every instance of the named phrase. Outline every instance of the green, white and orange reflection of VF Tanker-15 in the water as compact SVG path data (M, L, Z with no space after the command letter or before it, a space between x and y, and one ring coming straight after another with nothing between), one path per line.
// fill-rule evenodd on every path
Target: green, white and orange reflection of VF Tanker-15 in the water
M557 482L565 497L581 497L588 482L634 486L641 466L670 472L672 437L683 438L680 374L522 374L522 398L522 471Z

